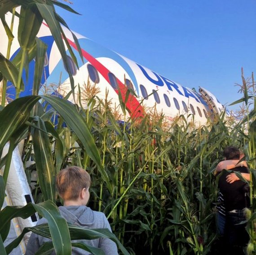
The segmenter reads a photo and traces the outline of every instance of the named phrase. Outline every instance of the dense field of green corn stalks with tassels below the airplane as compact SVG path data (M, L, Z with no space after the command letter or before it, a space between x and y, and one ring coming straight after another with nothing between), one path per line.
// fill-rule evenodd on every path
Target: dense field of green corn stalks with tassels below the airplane
M96 91L89 84L86 88ZM87 103L86 108L79 105L80 114L92 130L103 172L98 171L77 136L55 114L54 125L63 151L59 153L56 136L50 136L54 164L61 168L78 165L88 171L92 178L88 206L106 214L113 232L130 254L215 251L217 185L213 171L223 160L223 149L230 145L243 149L251 169L255 169L254 109L239 123L223 114L208 125L195 127L180 116L167 127L164 116L156 112L140 122L125 115L124 121L118 121L110 102L95 94L87 99L86 95L78 95L78 101ZM34 158L32 146L27 140L24 161ZM31 164L26 169L28 176L35 169L36 164ZM254 182L252 178L252 221L248 223L253 245ZM44 200L39 185L33 195L36 203Z

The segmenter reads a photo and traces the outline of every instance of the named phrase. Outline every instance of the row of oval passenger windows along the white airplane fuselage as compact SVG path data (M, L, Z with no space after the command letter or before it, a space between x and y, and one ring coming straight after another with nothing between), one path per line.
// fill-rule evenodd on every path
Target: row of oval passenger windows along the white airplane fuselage
M71 58L70 58L71 59ZM71 59L72 60L72 59ZM71 70L71 72L75 75L76 74L76 69L75 69L75 65L73 65L73 61L70 61L71 63L69 63L69 68ZM99 83L100 82L100 78L99 78L99 75L98 75L98 72L97 70L95 69L95 67L91 64L88 64L87 65L87 69L88 69L88 74L89 74L89 77L90 79L92 80L92 82L94 83ZM110 80L110 85L116 90L118 88L118 82L116 80L116 77L115 77L115 74L113 73L108 73L108 77L109 77L109 80ZM128 89L134 91L134 87L132 85L132 82L128 79L125 79L125 85L128 87ZM144 99L148 99L148 92L145 88L145 86L143 86L142 84L140 85L140 89L141 89L141 94L143 96ZM153 96L154 96L154 100L157 104L160 104L160 97L159 97L159 94L157 93L157 91L155 90L152 90L152 93L153 93ZM168 97L168 95L166 94L163 94L163 99L165 101L165 104L168 106L168 107L171 107L171 102L170 102L170 99ZM178 100L173 97L173 102L174 102L174 105L176 107L176 109L179 111L181 109L180 107L180 104L178 102ZM183 106L183 109L185 112L188 112L189 111L189 108L187 107L187 104L182 101L182 106ZM194 106L192 104L190 104L190 110L191 112L196 115L196 112L195 112L195 109L194 109ZM199 114L200 117L202 117L202 112L200 110L199 107L196 108L197 109L197 112ZM207 115L207 112L205 109L203 109L203 113L204 113L204 116L207 118L208 115Z

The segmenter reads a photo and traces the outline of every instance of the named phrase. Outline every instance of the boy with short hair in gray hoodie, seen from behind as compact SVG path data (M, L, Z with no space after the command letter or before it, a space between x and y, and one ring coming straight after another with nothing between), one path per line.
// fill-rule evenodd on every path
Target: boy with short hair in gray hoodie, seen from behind
M64 206L59 207L60 214L72 225L89 229L107 228L111 231L105 214L93 211L86 206L90 197L90 184L91 178L84 169L77 166L62 169L56 178L58 194L64 201ZM47 220L42 218L37 225L44 223L47 223ZM26 255L34 255L44 242L49 241L51 241L49 238L32 233L26 247ZM115 242L109 238L79 240L78 242L101 248L105 255L118 255ZM89 255L90 253L79 248L72 248L72 254Z

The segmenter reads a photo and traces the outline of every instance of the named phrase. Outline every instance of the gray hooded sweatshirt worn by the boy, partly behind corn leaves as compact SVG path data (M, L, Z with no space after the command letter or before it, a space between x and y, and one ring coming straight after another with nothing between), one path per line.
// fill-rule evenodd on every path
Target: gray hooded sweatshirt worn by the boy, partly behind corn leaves
M87 206L60 206L60 214L66 219L68 223L76 225L85 229L109 229L111 231L109 222L102 212L96 212ZM47 220L42 218L38 221L37 225L47 223ZM26 255L35 255L39 247L44 242L51 241L49 238L44 238L35 233L31 234L31 237L26 246ZM76 242L76 241L72 241ZM77 242L83 242L84 244L101 248L105 255L118 255L115 242L109 238L98 238L93 240L78 240ZM52 253L54 255L55 252ZM72 247L72 255L89 255L88 251L84 251L79 248Z

